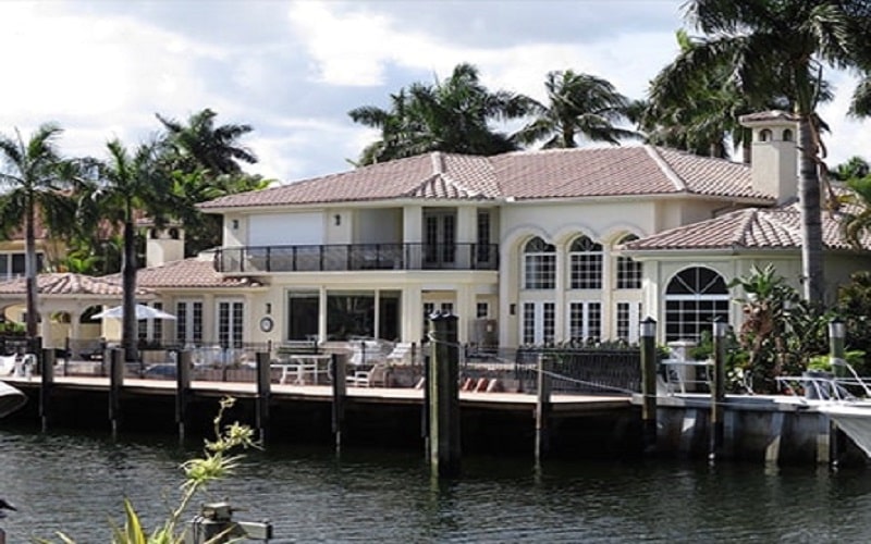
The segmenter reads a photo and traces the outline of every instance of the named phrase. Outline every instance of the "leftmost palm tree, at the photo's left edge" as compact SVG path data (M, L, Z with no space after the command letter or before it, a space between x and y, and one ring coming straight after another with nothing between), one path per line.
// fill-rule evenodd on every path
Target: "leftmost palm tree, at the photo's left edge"
M15 136L0 135L0 184L8 190L0 196L0 222L9 232L24 225L24 273L27 285L26 333L35 338L38 309L36 288L36 222L40 215L44 225L72 224L70 198L63 189L70 187L73 176L70 162L64 161L57 148L62 129L51 123L44 124L25 141L16 129ZM68 214L68 221L62 218Z

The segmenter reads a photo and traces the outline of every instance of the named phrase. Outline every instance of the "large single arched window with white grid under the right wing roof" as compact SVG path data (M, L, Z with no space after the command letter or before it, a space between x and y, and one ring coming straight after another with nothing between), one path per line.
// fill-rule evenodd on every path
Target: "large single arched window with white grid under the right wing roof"
M698 341L714 318L728 321L728 305L723 276L704 267L682 270L665 289L665 341Z

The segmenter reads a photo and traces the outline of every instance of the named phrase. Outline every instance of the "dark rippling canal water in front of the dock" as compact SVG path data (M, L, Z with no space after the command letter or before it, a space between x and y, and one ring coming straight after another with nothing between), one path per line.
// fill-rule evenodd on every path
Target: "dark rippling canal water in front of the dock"
M110 542L128 497L155 527L175 505L179 465L199 453L169 436L40 434L0 428L0 520L9 543L62 530ZM270 447L211 489L273 542L867 542L871 471L679 460L545 462L470 456L433 482L417 452Z

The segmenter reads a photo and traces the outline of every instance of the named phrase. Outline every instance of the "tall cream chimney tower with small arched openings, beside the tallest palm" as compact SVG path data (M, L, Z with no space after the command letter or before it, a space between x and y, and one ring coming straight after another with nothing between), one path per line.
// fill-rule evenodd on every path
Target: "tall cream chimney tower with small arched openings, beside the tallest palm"
M753 189L771 195L783 205L798 198L798 119L772 110L741 115L750 128L750 172Z

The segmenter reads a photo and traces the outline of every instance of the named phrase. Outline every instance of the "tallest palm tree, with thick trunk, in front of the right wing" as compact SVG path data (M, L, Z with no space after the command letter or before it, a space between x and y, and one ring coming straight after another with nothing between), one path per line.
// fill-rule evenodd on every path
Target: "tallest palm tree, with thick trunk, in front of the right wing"
M729 67L735 88L751 103L782 92L798 119L803 296L824 299L820 206L821 139L817 129L826 67L871 65L867 0L689 0L686 18L704 33L660 75L672 95L699 74Z

